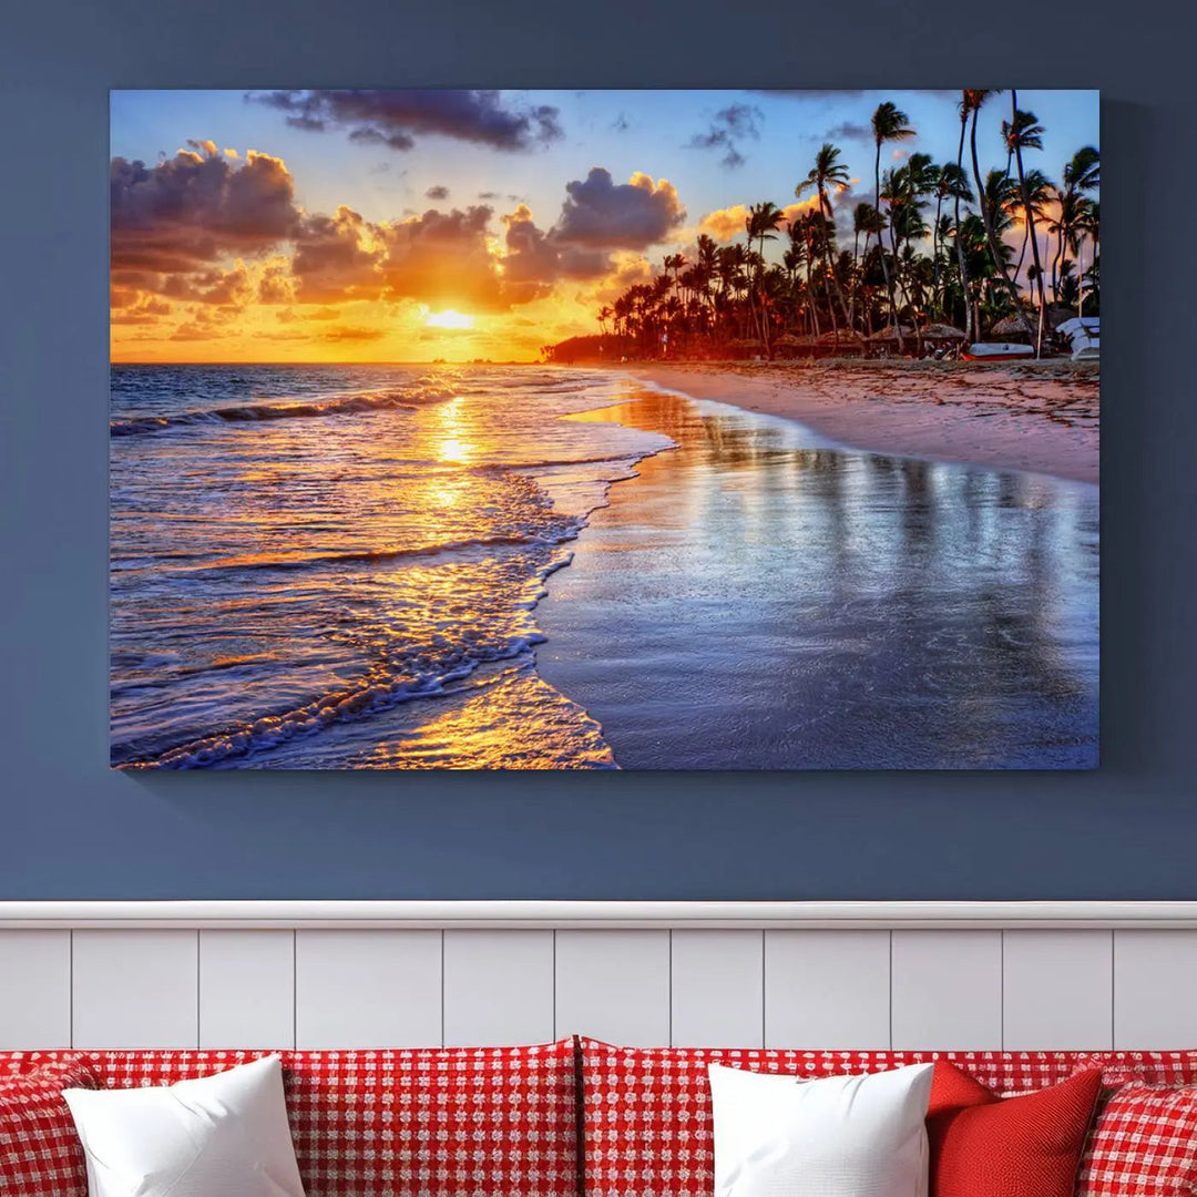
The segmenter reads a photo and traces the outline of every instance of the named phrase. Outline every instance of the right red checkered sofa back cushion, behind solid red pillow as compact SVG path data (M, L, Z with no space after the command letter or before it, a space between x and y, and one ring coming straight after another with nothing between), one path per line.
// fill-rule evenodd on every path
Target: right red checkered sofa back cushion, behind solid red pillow
M1076 1052L784 1051L614 1047L582 1040L588 1197L706 1197L715 1183L706 1065L794 1076L880 1073L942 1057L996 1093L1071 1076Z

